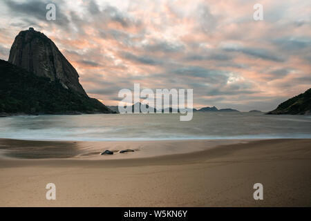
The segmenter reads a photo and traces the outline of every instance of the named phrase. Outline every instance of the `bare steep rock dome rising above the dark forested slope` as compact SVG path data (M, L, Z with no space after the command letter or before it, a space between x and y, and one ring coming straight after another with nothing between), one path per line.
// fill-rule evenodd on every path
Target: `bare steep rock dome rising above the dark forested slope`
M86 95L75 68L46 35L30 28L19 32L10 49L8 61L39 77L58 80L66 89Z

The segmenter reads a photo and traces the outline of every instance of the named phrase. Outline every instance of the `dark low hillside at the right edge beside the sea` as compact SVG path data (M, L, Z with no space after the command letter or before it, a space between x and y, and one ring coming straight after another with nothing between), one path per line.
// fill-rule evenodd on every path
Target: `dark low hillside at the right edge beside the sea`
M280 104L267 115L305 115L311 114L311 88Z

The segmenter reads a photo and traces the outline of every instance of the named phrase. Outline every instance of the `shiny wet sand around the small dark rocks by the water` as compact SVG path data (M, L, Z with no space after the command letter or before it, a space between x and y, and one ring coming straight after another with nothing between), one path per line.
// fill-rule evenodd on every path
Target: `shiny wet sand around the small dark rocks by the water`
M75 158L88 160L115 160L129 158L156 157L176 153L203 151L223 144L238 144L250 140L154 140L154 141L102 141L69 142L11 140L0 138L0 157L19 159ZM120 153L131 149L135 153ZM113 152L109 157L100 153Z

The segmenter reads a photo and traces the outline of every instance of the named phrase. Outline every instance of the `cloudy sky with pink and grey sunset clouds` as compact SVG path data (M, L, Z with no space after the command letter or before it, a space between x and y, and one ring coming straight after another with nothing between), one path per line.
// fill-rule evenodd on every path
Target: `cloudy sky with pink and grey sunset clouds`
M55 21L46 19L47 3ZM263 21L253 19L256 3ZM305 0L1 0L0 59L33 27L106 105L139 83L192 88L196 108L271 111L311 87L310 17Z

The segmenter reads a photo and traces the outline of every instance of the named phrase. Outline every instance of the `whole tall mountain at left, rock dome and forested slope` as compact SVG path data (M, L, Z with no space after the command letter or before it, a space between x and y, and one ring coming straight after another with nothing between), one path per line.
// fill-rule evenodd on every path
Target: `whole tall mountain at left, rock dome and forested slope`
M0 60L0 113L115 113L86 95L79 75L48 37L19 32L8 61Z

